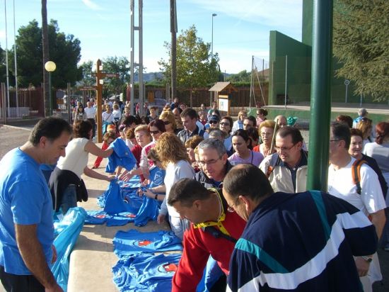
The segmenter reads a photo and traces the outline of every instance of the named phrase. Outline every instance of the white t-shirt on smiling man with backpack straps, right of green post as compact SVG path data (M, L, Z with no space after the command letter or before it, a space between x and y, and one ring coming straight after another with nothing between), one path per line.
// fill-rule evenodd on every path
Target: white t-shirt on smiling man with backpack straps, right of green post
M386 207L380 182L376 172L366 164L362 164L361 194L356 193L356 185L352 180L352 157L349 164L341 169L335 169L332 164L328 168L328 193L351 203L366 215L376 213Z

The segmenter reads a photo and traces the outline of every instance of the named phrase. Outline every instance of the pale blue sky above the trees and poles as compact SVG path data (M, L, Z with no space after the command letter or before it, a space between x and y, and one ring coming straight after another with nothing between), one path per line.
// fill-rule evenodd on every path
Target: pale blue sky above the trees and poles
M1 0L0 45L13 45L13 1ZM40 0L14 0L16 30L34 18L41 23ZM138 0L135 0L136 6ZM169 0L144 0L144 67L159 71L158 60L168 60L163 47L170 42ZM130 56L129 0L47 0L47 19L59 30L81 41L81 62L108 56ZM177 0L178 34L194 24L197 36L211 43L214 17L214 53L221 71L251 69L251 56L269 60L269 30L301 40L302 0ZM137 35L137 34L136 34ZM137 62L137 50L135 50ZM261 63L262 64L262 63Z

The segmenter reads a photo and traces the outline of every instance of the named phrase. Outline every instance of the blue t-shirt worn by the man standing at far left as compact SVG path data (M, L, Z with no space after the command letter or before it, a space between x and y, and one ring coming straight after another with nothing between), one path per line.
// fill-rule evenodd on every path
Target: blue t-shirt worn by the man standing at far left
M16 243L15 227L37 225L37 238L51 265L54 241L52 196L32 157L19 148L0 161L0 265L9 274L28 275Z

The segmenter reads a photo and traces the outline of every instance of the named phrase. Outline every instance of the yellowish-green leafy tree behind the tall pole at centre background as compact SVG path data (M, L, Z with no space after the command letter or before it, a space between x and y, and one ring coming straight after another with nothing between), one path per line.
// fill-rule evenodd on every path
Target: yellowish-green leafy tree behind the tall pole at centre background
M170 43L165 47L170 55ZM219 79L219 56L214 54L211 60L210 44L197 37L195 26L182 30L177 38L177 86L200 87ZM164 79L170 82L170 60L161 59Z

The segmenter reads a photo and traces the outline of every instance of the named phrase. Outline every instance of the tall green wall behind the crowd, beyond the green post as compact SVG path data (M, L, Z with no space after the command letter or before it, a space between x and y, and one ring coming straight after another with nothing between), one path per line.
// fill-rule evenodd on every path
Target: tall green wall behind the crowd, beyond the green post
M336 3L335 3L336 5ZM310 72L312 55L312 25L313 25L313 0L303 0L302 15L302 42L279 33L270 31L269 47L269 104L284 104L285 93L285 56L288 55L287 94L291 103L310 101ZM342 64L333 58L332 69L336 70ZM359 103L361 97L354 94L354 86L351 82L348 86L347 103ZM277 95L279 98L277 99ZM332 102L344 102L346 100L346 86L344 79L332 75L331 80ZM387 104L388 101L373 101L371 96L364 96L362 103Z

